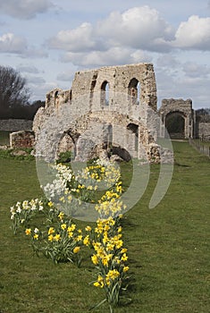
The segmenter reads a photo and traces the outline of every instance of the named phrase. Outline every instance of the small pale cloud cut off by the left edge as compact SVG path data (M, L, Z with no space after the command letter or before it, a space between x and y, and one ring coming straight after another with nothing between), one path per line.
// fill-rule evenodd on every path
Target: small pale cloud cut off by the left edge
M24 38L8 32L0 37L0 53L20 54L26 49L27 43Z

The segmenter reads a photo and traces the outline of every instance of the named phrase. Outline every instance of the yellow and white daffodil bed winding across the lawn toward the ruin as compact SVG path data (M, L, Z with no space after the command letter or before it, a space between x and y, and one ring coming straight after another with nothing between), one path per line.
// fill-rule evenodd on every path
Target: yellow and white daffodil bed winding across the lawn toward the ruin
M11 207L13 233L24 230L33 250L51 258L55 264L71 262L81 266L82 250L91 250L90 261L95 266L92 282L105 291L110 312L119 305L122 291L128 284L128 256L122 241L121 173L117 166L97 161L76 174L66 165L53 165L54 179L43 186L46 199L17 202ZM97 221L94 227L78 228L73 216L88 214L94 207Z

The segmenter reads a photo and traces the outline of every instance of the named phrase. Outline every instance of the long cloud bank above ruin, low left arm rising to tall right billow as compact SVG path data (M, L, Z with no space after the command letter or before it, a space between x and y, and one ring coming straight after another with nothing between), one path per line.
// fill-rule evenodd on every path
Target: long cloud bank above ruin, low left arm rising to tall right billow
M146 5L113 12L97 25L84 22L76 29L61 30L47 44L69 52L105 51L108 47L168 51L173 34L159 13Z

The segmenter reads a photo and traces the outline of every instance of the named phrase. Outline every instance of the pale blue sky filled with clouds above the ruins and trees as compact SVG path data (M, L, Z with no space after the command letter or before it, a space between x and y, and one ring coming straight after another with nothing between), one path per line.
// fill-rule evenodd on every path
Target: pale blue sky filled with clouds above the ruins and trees
M27 78L31 101L70 89L79 70L149 62L159 106L210 107L210 1L0 0L0 60Z

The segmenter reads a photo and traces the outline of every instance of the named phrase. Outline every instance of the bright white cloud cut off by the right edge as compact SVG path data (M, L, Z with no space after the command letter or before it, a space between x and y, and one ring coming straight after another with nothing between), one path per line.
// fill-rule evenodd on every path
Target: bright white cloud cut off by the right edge
M172 44L180 48L210 50L210 17L192 15L188 21L182 21Z

